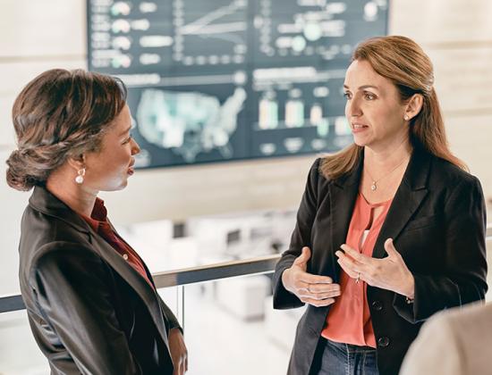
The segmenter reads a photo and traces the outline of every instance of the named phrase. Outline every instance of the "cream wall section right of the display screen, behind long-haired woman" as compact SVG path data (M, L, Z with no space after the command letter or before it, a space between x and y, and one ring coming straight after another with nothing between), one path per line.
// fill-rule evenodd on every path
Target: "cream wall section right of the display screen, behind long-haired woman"
M434 63L449 143L492 199L492 2L394 0L390 31L412 37Z

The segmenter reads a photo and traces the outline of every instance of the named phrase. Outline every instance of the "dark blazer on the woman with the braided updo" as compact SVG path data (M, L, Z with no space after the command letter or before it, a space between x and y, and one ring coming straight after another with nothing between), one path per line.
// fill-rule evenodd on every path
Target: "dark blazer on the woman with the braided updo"
M52 374L172 374L156 291L89 224L43 187L21 221L19 279ZM148 279L152 279L146 267Z

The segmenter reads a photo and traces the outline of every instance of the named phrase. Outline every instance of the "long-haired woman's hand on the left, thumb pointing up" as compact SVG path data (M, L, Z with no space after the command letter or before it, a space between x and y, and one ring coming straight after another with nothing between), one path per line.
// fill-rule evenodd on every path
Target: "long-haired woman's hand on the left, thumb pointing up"
M327 306L340 296L340 285L327 276L313 275L307 272L311 257L310 248L302 247L302 254L295 258L291 268L282 274L285 289L297 296L303 303L313 306Z

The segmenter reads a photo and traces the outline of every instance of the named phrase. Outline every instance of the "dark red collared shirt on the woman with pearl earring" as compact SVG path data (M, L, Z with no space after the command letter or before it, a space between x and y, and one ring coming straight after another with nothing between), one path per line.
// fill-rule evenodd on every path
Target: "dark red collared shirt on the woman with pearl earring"
M115 230L113 230L107 221L107 210L102 199L96 198L96 203L94 204L90 217L85 215L81 215L81 217L87 221L90 227L94 229L99 236L103 237L118 254L122 255L123 259L128 262L135 271L139 272L141 277L144 278L151 287L155 288L148 278L147 271L145 270L144 263L139 254L137 254L122 237L115 233Z

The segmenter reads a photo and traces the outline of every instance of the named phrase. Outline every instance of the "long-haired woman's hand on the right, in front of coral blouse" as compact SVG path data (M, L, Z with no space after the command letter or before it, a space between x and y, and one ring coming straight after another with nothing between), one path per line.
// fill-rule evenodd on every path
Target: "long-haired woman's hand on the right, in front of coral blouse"
M396 251L393 239L388 238L385 249L388 256L383 259L372 258L344 244L335 253L338 263L352 279L361 279L371 287L392 290L402 296L413 299L415 279L403 261L402 255Z

